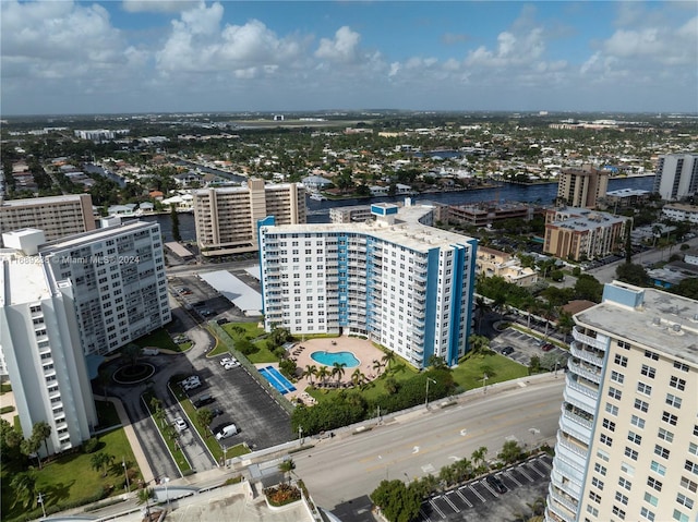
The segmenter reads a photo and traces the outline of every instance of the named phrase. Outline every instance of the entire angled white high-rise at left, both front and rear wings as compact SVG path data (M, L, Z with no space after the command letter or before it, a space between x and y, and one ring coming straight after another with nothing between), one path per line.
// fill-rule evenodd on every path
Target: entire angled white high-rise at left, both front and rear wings
M47 244L39 230L4 236L15 250L0 252L0 371L24 436L45 421L49 452L63 451L97 424L86 357L170 320L159 226L134 222Z

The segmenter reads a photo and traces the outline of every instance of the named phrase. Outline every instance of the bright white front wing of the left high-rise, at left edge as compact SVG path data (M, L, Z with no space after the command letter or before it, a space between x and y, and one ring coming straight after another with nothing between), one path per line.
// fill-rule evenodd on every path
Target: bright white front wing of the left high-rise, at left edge
M24 437L44 421L50 453L79 446L97 424L74 288L49 281L38 256L0 254L0 349ZM40 452L44 453L44 447Z

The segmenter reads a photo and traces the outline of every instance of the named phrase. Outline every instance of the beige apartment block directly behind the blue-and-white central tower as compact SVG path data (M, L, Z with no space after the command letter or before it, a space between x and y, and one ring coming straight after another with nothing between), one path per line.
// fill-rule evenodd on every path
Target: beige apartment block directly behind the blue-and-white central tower
M194 192L196 240L205 256L256 252L257 221L274 216L279 224L305 222L305 190L297 183L203 189Z

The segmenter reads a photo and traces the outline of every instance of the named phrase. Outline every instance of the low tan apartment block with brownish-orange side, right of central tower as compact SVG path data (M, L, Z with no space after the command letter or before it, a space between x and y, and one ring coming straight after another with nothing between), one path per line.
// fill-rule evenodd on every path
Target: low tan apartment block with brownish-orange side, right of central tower
M550 209L543 252L574 260L606 256L623 244L627 219L588 208Z

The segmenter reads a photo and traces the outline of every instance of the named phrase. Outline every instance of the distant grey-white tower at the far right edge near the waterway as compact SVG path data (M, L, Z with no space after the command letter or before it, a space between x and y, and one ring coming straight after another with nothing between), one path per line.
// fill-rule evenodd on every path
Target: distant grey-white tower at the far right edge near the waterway
M677 201L698 191L698 154L667 154L659 157L654 186L662 199Z

